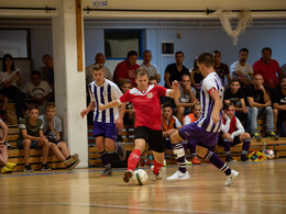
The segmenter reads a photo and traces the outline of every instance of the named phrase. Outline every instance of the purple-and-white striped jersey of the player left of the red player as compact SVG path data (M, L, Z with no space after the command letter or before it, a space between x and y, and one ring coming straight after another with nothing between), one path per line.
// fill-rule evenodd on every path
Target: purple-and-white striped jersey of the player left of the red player
M122 92L114 82L108 79L105 80L106 82L101 87L97 86L96 81L90 82L88 86L90 100L95 102L94 121L114 123L119 117L119 108L102 111L98 109L98 105L99 103L107 104L113 100L118 100L122 95Z

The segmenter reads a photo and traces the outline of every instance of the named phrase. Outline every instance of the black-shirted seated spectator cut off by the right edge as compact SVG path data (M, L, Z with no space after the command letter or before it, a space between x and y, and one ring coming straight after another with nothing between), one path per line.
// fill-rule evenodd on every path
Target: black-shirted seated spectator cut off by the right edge
M282 77L280 86L272 93L274 132L286 136L286 76Z

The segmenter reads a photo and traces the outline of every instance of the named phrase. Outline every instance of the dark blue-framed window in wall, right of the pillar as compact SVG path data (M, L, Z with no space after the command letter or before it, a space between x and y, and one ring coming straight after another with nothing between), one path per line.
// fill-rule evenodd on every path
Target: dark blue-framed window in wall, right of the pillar
M142 30L106 30L105 52L107 58L127 58L130 50L143 56Z

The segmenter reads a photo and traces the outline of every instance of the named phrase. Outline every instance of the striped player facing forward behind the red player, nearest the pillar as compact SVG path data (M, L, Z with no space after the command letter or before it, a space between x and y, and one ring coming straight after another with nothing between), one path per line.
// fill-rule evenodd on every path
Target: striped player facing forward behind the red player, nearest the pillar
M105 171L101 173L102 177L112 176L111 164L108 158L108 150L117 150L119 158L123 161L127 158L127 153L121 143L117 143L117 127L122 128L123 126L123 114L125 105L120 110L113 108L108 111L102 111L99 109L99 103L108 103L113 100L119 99L122 92L116 83L105 79L103 66L98 64L94 67L94 78L95 81L89 83L88 90L90 93L91 101L85 110L80 112L82 119L88 114L89 111L95 111L94 113L94 137L97 144L98 153L100 159L105 167ZM117 125L116 125L117 124Z

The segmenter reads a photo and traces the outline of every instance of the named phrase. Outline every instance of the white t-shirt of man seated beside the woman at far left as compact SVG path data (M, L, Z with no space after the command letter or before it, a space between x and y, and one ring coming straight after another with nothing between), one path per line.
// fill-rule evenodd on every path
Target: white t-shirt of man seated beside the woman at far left
M29 81L25 83L22 91L31 97L41 99L51 93L53 90L46 81L41 81L38 86L35 86L32 81Z

